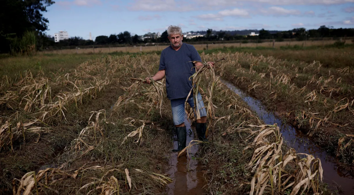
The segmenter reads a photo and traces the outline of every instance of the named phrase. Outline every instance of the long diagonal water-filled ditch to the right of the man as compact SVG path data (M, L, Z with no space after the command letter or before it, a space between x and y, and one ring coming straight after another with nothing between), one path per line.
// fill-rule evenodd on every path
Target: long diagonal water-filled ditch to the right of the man
M240 89L236 88L233 84L222 80L222 82L236 94L238 94L250 107L255 111L260 119L265 124L277 123L279 129L287 142L287 145L293 147L298 153L312 154L315 157L321 159L323 168L324 182L329 184L330 189L341 189L342 194L352 195L354 194L354 177L346 172L335 160L326 154L326 151L317 146L301 131L297 130L290 124L283 123L281 119L275 116L272 112L268 112L262 105L261 101L248 96Z

